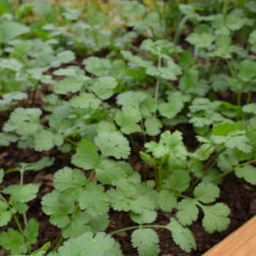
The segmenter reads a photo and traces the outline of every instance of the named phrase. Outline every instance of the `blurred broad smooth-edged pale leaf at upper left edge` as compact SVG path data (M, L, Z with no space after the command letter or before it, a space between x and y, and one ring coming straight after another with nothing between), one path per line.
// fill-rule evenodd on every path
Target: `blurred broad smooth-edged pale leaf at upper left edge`
M23 23L15 21L0 24L0 42L8 42L22 34L29 33L30 29Z

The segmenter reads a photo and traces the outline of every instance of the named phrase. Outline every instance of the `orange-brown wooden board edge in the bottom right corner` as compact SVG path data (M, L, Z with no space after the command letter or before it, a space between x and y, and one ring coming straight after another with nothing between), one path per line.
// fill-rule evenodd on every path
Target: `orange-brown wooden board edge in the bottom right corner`
M255 256L256 216L215 245L202 256Z

